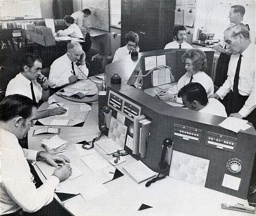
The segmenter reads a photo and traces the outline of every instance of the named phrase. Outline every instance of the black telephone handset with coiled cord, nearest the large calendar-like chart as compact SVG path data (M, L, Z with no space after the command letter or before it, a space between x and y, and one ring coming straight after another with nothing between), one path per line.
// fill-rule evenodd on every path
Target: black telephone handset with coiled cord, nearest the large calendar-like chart
M158 164L160 170L167 170L171 164L172 159L173 142L170 138L165 138L162 144L161 159ZM158 173L158 175L146 182L145 186L148 187L150 184L165 178L166 175Z

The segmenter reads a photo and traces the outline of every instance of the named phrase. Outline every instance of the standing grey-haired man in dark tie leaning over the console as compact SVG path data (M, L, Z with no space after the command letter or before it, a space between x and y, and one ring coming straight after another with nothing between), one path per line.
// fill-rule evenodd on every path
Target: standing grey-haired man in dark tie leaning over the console
M255 127L255 44L242 23L227 28L224 39L232 52L228 78L211 97L223 100L228 116L244 118Z

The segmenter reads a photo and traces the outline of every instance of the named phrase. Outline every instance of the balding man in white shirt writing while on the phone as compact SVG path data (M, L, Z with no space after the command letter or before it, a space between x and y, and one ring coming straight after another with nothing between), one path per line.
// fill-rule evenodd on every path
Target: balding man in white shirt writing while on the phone
M85 65L85 53L78 42L69 42L68 51L57 58L51 65L49 74L49 86L57 88L78 79L86 80L88 68Z

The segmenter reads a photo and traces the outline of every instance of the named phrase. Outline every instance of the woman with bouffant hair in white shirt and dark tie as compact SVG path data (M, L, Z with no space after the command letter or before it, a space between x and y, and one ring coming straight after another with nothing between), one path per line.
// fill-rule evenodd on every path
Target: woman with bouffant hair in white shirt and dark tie
M182 99L177 97L179 90L188 83L199 82L204 86L208 96L213 94L214 86L212 79L203 70L207 67L206 55L200 49L188 49L182 56L185 62L186 74L178 81L177 85L169 88L167 92L159 94L160 100L170 100L182 104Z

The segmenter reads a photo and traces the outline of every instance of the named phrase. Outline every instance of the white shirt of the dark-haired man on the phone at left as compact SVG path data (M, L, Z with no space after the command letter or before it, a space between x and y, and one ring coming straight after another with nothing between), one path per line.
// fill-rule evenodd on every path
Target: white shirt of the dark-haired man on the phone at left
M30 80L28 80L25 76L23 76L21 73L17 74L9 83L6 88L5 96L11 95L11 94L21 94L24 96L29 97L31 100L32 98L32 92L30 87ZM36 80L32 80L33 84L33 90L36 97L36 102L41 100L42 98L42 87Z

